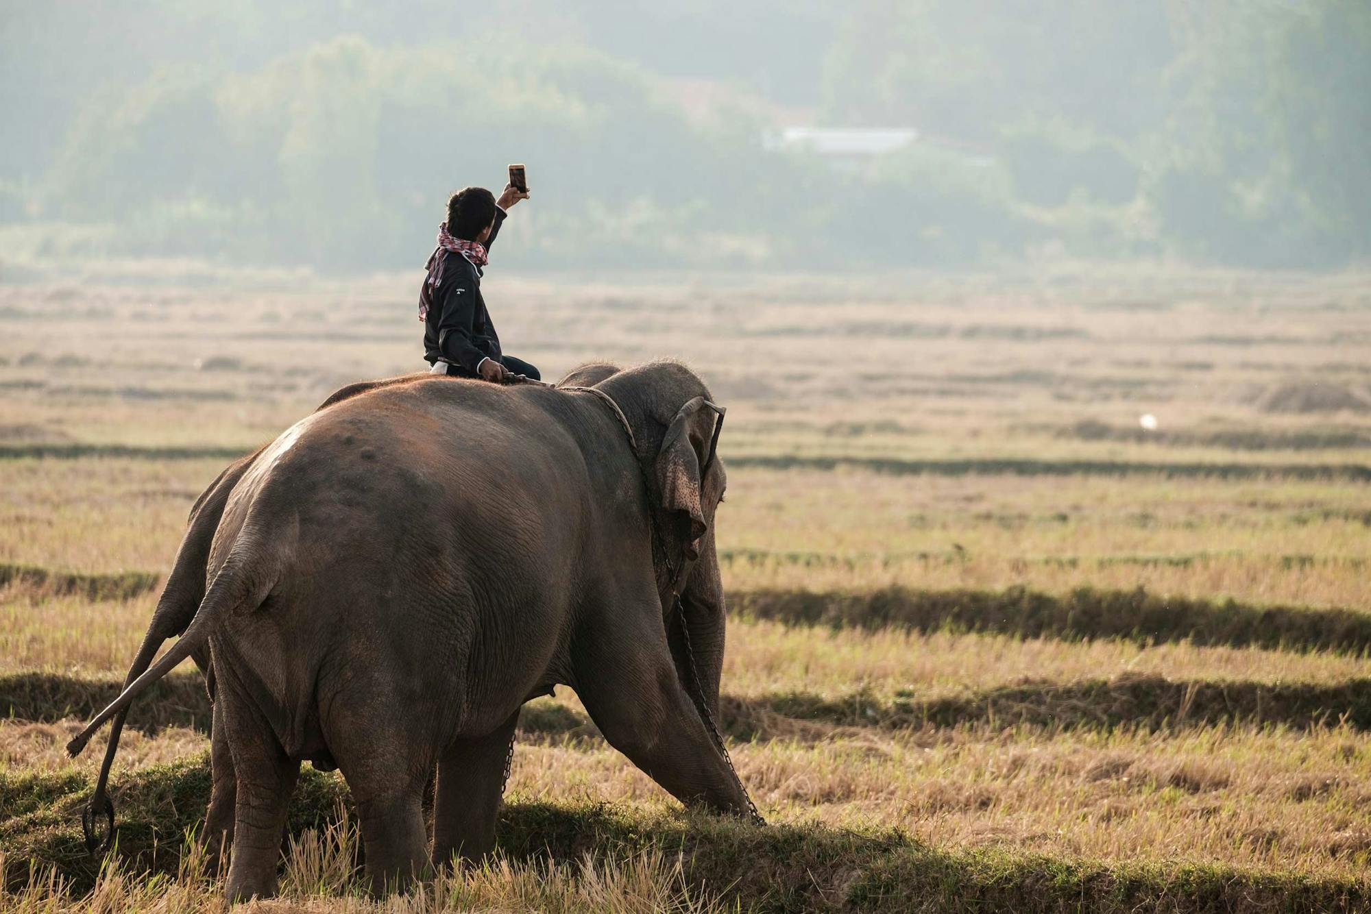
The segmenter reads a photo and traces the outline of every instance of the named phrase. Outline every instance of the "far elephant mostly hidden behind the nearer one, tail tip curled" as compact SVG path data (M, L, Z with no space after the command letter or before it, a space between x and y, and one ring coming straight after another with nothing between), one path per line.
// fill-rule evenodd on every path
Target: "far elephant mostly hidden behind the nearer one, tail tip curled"
M609 362L587 362L585 365L569 371L557 382L555 386L591 386L594 384L599 384L617 371L618 366ZM314 411L318 412L319 410L325 410L335 403L340 403L359 393L366 393L367 391L389 386L392 384L418 381L426 377L426 373L417 373L374 381L356 381L330 393L318 407L315 407ZM191 621L195 618L196 608L199 608L200 602L204 599L210 545L214 541L214 533L218 529L219 518L223 514L223 506L228 502L229 495L233 492L233 486L237 485L237 481L244 473L247 473L248 467L252 466L254 460L256 460L265 449L266 447L258 448L252 454L239 458L225 467L208 485L208 488L200 493L200 496L195 500L195 504L191 507L188 528L181 540L181 545L177 548L171 574L167 576L167 580L163 584L162 593L158 597L158 604L152 614L152 621L148 625L148 630L143 637L143 644L129 667L129 673L123 682L125 688L132 685L133 681L148 669L152 663L152 658L156 656L156 652L162 648L162 645L167 640L185 632L186 626L189 626ZM199 666L204 673L206 689L208 691L210 700L213 703L215 691L214 666L210 663L207 645L193 651L191 656L196 666ZM106 754L100 765L100 773L96 778L96 787L82 817L86 845L90 851L107 850L114 840L114 806L108 799L107 785L110 780L110 769L112 767L115 755L119 750L119 736L123 730L125 715L126 710L114 717L110 741L106 745ZM202 835L208 845L211 859L217 862L221 851L223 850L222 845L226 843L226 839L232 839L233 835L233 810L237 784L233 777L233 765L226 741L222 736L215 739L214 734L217 730L213 725L210 732L210 767L213 788ZM326 763L322 759L317 765L321 769L326 767ZM103 840L99 837L95 826L96 817L99 815L108 817L108 829Z

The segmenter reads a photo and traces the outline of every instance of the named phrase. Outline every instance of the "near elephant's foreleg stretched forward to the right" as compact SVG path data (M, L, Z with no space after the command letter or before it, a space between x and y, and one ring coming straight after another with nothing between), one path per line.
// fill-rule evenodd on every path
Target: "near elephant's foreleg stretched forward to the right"
M738 780L676 676L659 610L616 615L576 651L577 693L595 725L681 803L746 813Z

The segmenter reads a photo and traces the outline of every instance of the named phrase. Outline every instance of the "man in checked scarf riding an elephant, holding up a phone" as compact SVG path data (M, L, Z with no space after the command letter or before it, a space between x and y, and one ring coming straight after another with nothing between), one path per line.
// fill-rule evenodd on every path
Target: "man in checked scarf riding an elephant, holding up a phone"
M513 374L540 380L537 369L505 355L481 297L487 251L509 208L528 190L505 185L496 200L485 188L462 188L447 201L447 222L439 226L437 248L420 289L424 358L435 374L484 378L496 384Z

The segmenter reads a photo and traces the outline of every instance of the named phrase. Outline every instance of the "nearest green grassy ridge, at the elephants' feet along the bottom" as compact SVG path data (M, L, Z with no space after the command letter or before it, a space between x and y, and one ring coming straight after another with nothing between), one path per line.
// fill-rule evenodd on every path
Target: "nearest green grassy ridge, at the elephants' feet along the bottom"
M134 870L174 872L181 836L208 796L204 756L137 771L121 788L115 854ZM14 810L0 848L14 862L55 867L88 891L100 859L85 852L71 811L89 795L78 774L0 774L0 800ZM517 800L517 798L515 798ZM304 770L289 829L325 826L348 807L340 778ZM949 911L1355 911L1371 902L1363 881L1281 872L1156 863L1102 866L998 851L946 852L898 830L823 826L754 828L732 819L605 804L507 804L499 850L515 861L622 859L644 850L679 858L698 889L743 910ZM18 887L27 866L11 866Z

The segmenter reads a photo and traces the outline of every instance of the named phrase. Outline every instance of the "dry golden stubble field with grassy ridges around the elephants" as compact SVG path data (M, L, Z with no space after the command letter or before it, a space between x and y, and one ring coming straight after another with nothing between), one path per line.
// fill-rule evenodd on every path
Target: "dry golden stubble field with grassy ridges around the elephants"
M0 907L219 903L185 843L193 669L130 718L103 866L103 743L62 747L218 470L422 367L417 281L0 286ZM366 899L345 787L306 771L255 910L1371 910L1371 275L487 295L546 377L670 355L729 408L723 725L771 825L684 814L559 691L524 711L488 866Z

